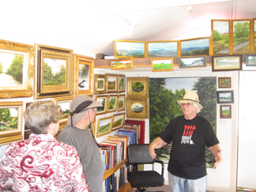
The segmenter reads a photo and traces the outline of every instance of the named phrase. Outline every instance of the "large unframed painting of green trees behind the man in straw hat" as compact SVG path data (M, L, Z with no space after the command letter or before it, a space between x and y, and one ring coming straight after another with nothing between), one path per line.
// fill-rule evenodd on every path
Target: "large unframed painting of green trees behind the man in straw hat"
M207 119L216 134L216 77L150 78L149 79L149 127L150 142L165 130L168 123L181 115L183 110L177 103L186 91L198 92L204 107L198 114ZM214 158L205 147L207 167L213 167ZM157 149L157 159L168 163L171 144Z

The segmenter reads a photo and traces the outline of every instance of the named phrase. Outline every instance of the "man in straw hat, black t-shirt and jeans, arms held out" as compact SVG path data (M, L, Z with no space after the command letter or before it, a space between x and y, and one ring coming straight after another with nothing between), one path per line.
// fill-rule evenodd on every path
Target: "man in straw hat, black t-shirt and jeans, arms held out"
M210 123L197 114L203 108L196 92L186 92L178 100L183 108L182 116L171 120L166 130L149 145L149 152L156 158L154 149L160 149L172 141L168 163L170 190L174 192L205 192L207 173L205 166L205 145L215 157L216 168L220 161L219 141Z

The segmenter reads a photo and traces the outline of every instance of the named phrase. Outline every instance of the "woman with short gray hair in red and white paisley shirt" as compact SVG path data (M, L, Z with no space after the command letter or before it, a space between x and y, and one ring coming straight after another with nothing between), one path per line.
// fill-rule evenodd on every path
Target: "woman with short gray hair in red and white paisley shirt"
M56 141L58 105L32 103L24 123L28 140L10 144L0 162L0 191L89 191L77 149Z

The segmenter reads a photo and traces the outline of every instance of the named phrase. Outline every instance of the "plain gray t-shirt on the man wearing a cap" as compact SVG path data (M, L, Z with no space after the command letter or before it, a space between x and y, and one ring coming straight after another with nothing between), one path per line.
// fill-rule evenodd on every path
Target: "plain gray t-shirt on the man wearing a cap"
M104 167L91 131L88 128L80 130L75 126L65 126L57 139L77 149L89 190L91 192L103 191Z

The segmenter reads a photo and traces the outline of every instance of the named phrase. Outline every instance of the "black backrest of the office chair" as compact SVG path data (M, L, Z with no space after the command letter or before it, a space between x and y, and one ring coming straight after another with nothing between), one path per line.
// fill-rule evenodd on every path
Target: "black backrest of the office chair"
M127 160L129 164L153 164L149 154L149 144L128 145Z

